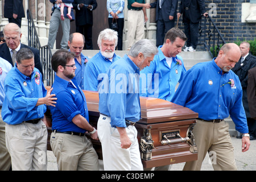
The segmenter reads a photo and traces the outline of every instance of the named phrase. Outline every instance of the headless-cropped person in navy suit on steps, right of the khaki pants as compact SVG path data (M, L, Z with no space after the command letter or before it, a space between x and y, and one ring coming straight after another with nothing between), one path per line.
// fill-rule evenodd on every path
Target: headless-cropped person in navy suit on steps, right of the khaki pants
M166 32L174 27L177 11L177 0L158 0L150 3L150 8L156 8L156 46L163 45Z

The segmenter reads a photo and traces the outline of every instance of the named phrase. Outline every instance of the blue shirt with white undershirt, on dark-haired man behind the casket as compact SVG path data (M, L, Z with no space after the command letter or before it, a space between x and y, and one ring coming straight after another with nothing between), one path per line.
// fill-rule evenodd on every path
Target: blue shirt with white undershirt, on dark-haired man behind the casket
M171 67L169 67L161 47L158 47L158 54L155 55L150 66L141 71L140 95L171 101L175 93L175 86L182 80L186 69L183 59L179 55L172 57ZM181 61L181 65L177 62L178 60Z

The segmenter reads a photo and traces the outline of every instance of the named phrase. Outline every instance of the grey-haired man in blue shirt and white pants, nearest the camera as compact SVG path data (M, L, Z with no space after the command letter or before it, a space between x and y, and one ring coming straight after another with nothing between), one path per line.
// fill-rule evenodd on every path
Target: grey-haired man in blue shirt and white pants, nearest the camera
M133 125L141 119L139 71L150 65L156 53L150 40L139 40L110 66L100 85L97 129L105 170L143 170Z

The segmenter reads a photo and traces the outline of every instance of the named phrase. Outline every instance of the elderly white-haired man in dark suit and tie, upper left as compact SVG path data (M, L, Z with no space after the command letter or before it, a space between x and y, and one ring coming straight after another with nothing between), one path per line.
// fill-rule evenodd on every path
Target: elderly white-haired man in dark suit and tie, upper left
M9 61L11 65L15 65L15 54L20 48L29 48L34 53L35 67L39 69L43 76L43 69L40 62L39 50L20 43L22 33L20 27L15 23L6 24L3 28L3 35L6 43L0 45L0 57Z

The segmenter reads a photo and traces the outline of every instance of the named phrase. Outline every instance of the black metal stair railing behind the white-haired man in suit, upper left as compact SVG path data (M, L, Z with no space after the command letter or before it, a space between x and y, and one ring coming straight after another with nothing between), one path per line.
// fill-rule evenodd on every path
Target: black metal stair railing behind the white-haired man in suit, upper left
M32 18L30 10L27 10L27 20L28 46L39 49L40 61L43 69L43 80L46 81L47 85L52 85L55 74L51 68L51 49L49 48L49 45L41 46L34 19Z

